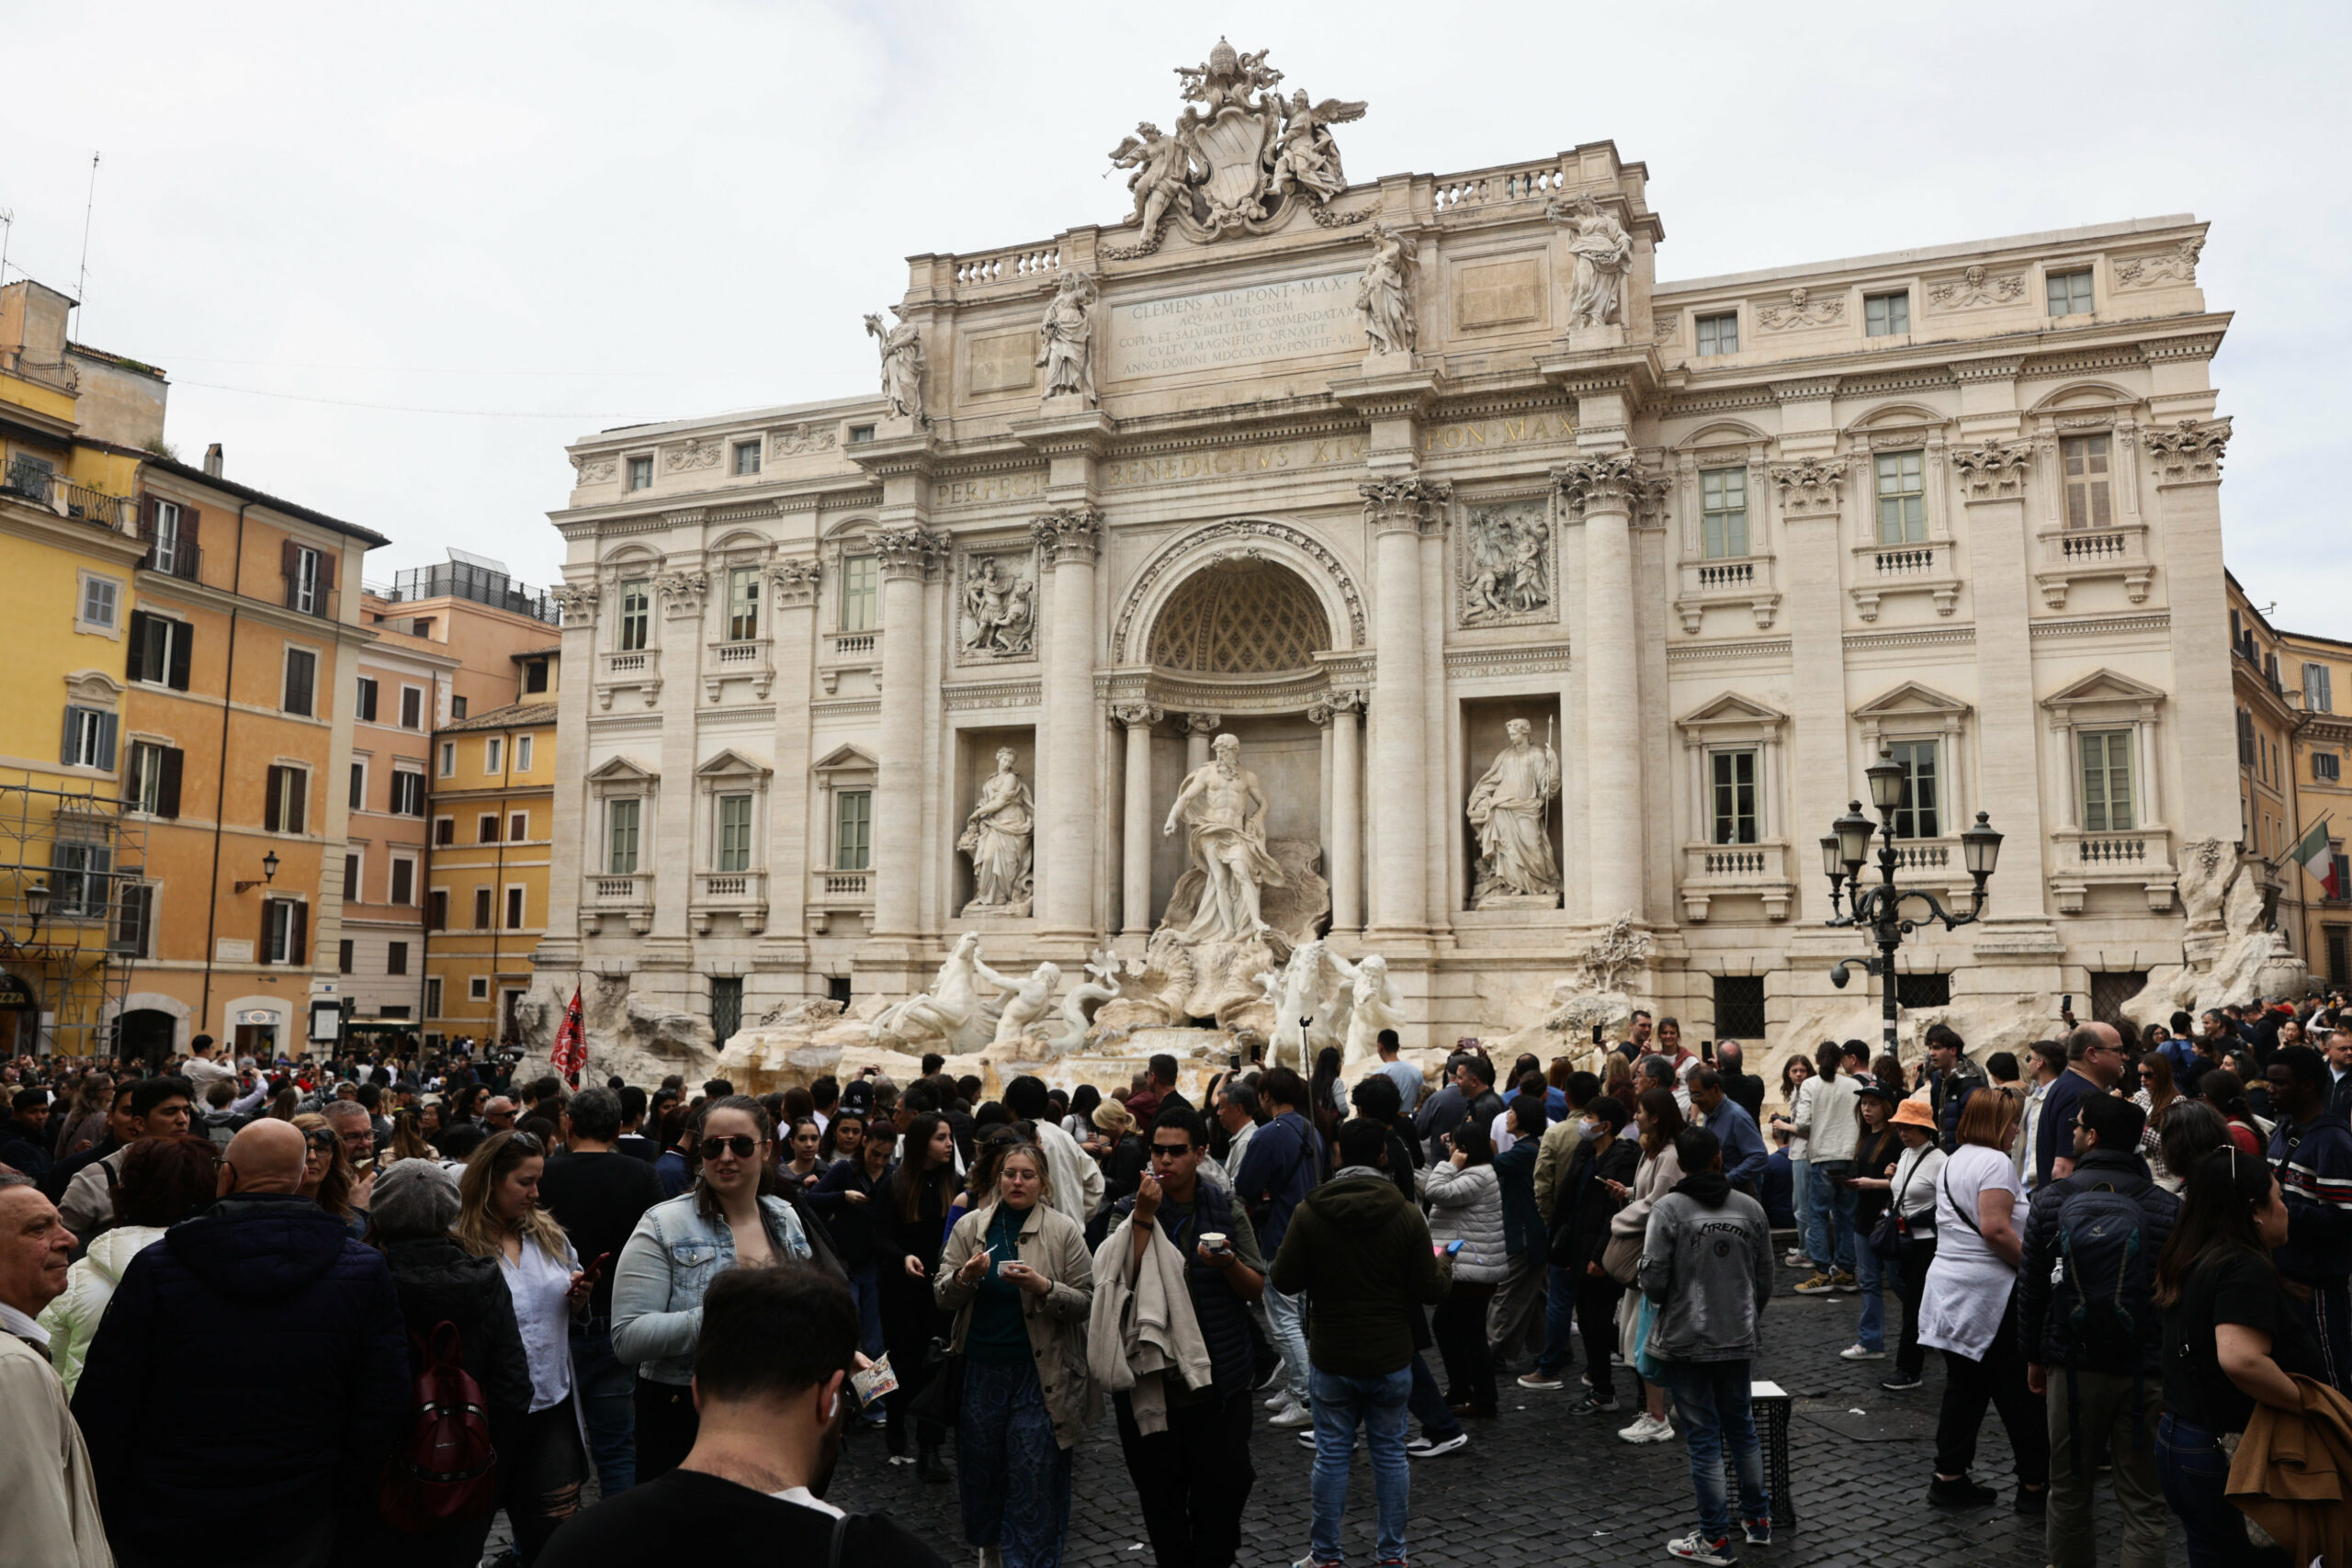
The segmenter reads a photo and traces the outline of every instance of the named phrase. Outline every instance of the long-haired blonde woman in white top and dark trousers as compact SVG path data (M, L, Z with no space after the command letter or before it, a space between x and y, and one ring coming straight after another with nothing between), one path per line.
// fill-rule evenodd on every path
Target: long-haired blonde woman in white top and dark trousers
M468 1253L499 1260L532 1366L529 1415L499 1453L499 1490L522 1563L579 1512L588 1479L588 1436L572 1387L572 1319L588 1312L595 1281L581 1272L564 1227L539 1206L543 1168L546 1147L532 1133L485 1138L466 1161L449 1227Z

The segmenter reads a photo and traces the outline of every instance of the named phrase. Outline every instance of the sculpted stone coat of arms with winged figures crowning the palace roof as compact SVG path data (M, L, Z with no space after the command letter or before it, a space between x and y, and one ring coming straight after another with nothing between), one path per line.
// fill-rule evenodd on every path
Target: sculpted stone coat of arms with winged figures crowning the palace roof
M1308 101L1305 89L1282 96L1282 73L1265 49L1237 54L1223 38L1204 66L1178 66L1185 110L1176 132L1152 122L1110 153L1112 167L1134 169L1127 188L1136 209L1127 223L1143 230L1134 247L1108 256L1143 256L1160 247L1174 221L1192 240L1232 228L1265 233L1303 205L1324 223L1357 223L1364 214L1329 216L1327 202L1348 188L1334 125L1364 118L1362 101Z

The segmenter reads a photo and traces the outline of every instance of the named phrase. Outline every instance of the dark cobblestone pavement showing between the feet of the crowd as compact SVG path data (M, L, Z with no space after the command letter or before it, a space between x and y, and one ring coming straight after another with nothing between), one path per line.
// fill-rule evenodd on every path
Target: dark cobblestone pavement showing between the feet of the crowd
M1740 1547L1759 1568L1877 1568L1879 1563L1959 1563L1966 1568L2039 1568L2042 1521L2011 1512L2009 1439L1999 1418L1985 1418L1976 1479L2002 1500L1983 1509L1929 1507L1926 1483L1936 1458L1936 1408L1943 1396L1938 1354L1926 1359L1926 1387L1889 1394L1879 1380L1889 1361L1842 1361L1853 1345L1860 1302L1853 1295L1795 1295L1799 1279L1780 1269L1780 1295L1764 1314L1764 1354L1757 1378L1795 1396L1790 1422L1790 1488L1797 1528L1776 1530L1771 1547ZM1889 1319L1900 1307L1889 1298ZM1889 1321L1889 1331L1893 1321ZM1435 1361L1432 1361L1435 1366ZM1503 1382L1503 1413L1465 1422L1470 1446L1435 1460L1414 1460L1409 1547L1416 1566L1475 1563L1668 1563L1663 1547L1696 1521L1691 1469L1682 1441L1632 1446L1616 1429L1632 1420L1571 1418L1576 1371L1557 1394L1534 1394ZM1524 1368L1517 1368L1524 1371ZM953 1455L953 1443L950 1443ZM1291 1432L1265 1425L1251 1436L1258 1486L1242 1523L1242 1568L1282 1568L1305 1556L1308 1469L1312 1455ZM2100 1561L2114 1561L2119 1526L2105 1479L2096 1486ZM884 1462L880 1434L858 1434L835 1474L830 1500L847 1509L887 1512L957 1568L976 1561L957 1526L955 1486L927 1486L913 1467ZM1371 1563L1371 1474L1357 1455L1348 1488L1345 1549L1350 1563ZM1136 1512L1134 1483L1120 1458L1117 1429L1105 1410L1077 1448L1070 1544L1073 1568L1150 1568L1150 1544ZM2173 1530L2166 1563L2185 1563Z

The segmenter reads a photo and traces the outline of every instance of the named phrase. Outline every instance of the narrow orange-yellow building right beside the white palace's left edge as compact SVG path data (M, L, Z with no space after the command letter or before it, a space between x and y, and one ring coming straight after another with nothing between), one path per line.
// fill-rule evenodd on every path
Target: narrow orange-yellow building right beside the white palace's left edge
M522 701L433 736L426 1041L515 1032L546 936L555 835L557 649L513 656Z

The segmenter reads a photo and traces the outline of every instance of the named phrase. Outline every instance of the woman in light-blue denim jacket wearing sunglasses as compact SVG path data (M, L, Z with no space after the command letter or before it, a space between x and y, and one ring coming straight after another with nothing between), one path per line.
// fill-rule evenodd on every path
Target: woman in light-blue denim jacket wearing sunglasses
M637 1368L637 1481L677 1469L694 1448L694 1335L703 1291L734 1265L811 1255L779 1197L776 1135L750 1095L703 1105L694 1185L654 1204L621 1248L612 1281L612 1354Z

